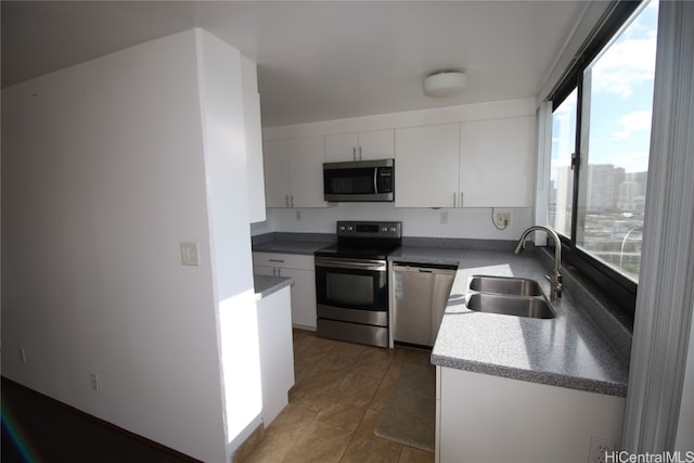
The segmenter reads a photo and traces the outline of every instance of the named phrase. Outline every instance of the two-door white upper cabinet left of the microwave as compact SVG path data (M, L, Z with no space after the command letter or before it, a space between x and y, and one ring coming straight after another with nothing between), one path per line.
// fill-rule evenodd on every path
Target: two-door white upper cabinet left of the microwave
M264 143L268 207L327 207L323 201L323 137Z

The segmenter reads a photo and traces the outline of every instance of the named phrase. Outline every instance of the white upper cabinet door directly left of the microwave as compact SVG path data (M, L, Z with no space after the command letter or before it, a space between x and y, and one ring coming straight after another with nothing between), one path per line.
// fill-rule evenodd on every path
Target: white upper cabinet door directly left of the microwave
M292 207L327 207L323 201L323 137L288 140Z

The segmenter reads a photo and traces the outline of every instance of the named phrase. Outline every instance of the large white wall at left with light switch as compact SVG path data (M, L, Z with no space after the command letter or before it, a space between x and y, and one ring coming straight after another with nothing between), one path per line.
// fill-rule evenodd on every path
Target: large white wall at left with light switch
M201 118L200 40L177 34L2 91L2 374L221 462L218 307L249 291L252 266L247 223L220 222L246 196L206 183L228 146L214 145L215 114ZM181 266L184 241L200 267Z

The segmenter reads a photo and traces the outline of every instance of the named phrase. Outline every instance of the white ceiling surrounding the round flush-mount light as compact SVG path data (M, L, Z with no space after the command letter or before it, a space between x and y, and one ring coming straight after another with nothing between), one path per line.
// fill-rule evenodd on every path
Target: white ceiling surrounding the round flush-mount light
M203 27L258 63L265 127L536 97L588 4L2 1L2 87ZM422 93L441 69L464 94Z

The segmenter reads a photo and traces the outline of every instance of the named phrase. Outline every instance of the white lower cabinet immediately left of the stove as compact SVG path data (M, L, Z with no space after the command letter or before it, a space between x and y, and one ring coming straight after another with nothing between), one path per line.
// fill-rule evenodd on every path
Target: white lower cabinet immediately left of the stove
M253 253L253 271L258 274L290 276L292 286L292 326L316 330L316 267L313 256Z

